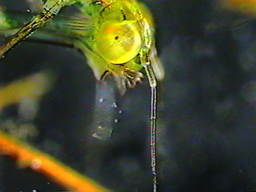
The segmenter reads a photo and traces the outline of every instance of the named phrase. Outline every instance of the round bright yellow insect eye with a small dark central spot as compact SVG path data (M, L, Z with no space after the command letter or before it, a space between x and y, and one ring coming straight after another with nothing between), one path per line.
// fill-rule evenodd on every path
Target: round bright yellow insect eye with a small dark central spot
M133 59L141 49L141 35L134 21L108 21L95 33L95 46L102 58L115 64Z

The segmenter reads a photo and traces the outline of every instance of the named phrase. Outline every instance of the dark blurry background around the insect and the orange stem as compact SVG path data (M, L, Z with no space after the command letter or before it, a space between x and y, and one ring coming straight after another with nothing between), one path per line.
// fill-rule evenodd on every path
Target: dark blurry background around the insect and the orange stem
M256 22L215 1L145 0L156 22L165 69L158 99L159 191L256 189ZM2 0L17 10L25 1ZM4 43L5 40L1 39ZM0 81L51 68L57 77L39 101L31 145L116 191L152 191L150 92L146 79L124 97L110 140L88 132L95 78L77 50L25 41L1 61ZM16 118L18 107L2 111ZM113 117L114 118L114 117ZM0 159L2 191L58 191L60 186Z

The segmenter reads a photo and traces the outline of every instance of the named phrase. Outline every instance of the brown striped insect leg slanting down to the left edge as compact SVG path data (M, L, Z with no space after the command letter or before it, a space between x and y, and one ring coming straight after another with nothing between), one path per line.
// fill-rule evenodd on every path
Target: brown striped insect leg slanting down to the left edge
M43 10L29 21L22 29L12 36L9 42L0 47L0 59L10 52L15 46L45 25L47 21L59 13L65 5L75 3L76 0L47 0Z

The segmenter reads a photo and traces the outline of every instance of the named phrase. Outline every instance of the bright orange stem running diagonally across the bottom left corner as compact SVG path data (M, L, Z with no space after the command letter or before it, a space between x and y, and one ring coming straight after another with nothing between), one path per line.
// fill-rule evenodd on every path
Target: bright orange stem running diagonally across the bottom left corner
M97 182L76 172L50 155L29 146L10 134L0 131L0 151L4 155L17 158L21 167L30 167L71 191L110 191Z

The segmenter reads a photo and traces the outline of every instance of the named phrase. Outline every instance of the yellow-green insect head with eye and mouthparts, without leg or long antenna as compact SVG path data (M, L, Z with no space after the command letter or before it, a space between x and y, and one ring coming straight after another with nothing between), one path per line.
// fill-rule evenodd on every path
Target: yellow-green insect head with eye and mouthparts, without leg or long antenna
M75 33L79 39L75 45L86 55L98 80L107 74L114 76L119 91L124 94L126 85L134 87L141 81L143 75L139 71L147 60L156 61L152 65L161 68L157 54L150 53L150 50L156 52L155 28L145 5L123 0L80 2L80 9L89 21L81 30L83 23L70 20L73 28L69 33Z

